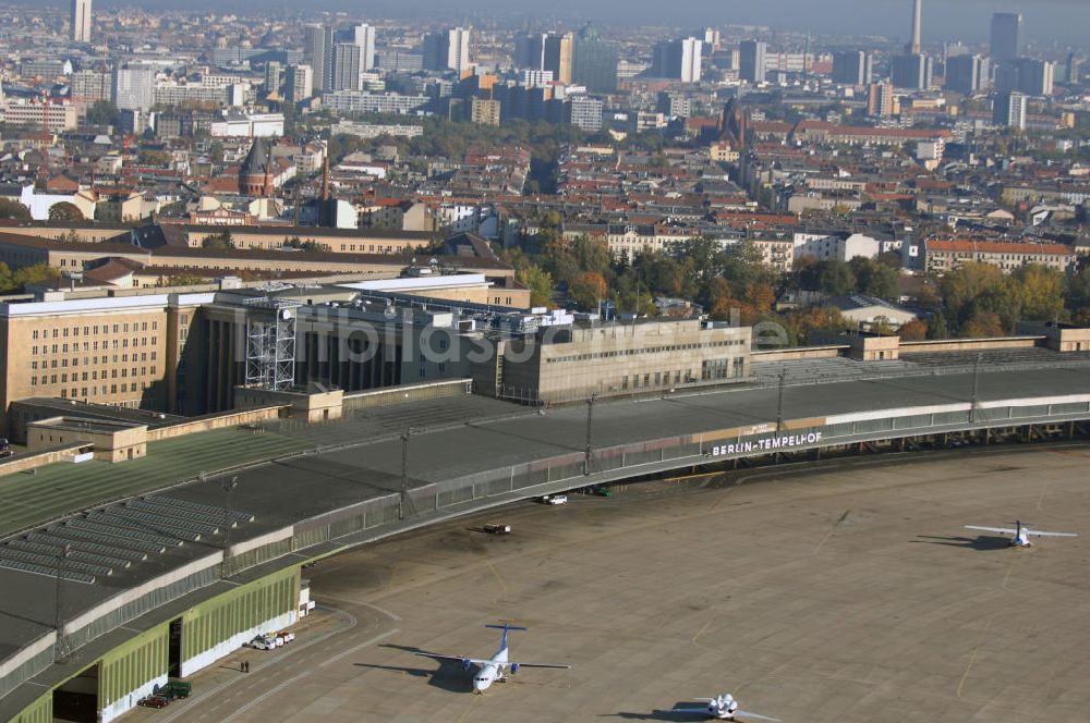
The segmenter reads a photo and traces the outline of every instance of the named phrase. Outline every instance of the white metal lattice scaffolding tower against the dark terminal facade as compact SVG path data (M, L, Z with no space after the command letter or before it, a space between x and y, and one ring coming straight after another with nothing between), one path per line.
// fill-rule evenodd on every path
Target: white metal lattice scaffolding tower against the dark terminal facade
M246 299L246 387L286 391L295 383L295 309L300 302Z

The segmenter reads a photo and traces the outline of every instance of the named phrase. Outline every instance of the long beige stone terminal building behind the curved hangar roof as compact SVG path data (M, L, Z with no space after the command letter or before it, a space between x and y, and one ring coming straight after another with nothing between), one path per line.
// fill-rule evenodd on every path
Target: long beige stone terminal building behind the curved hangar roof
M282 367L277 388L350 393L472 378L481 394L534 403L722 384L749 371L748 329L545 314L526 308L526 289L483 273L414 268L398 279L130 292L0 303L2 433L25 438L8 413L32 397L181 416L232 409L237 389L267 381L251 367L269 355Z

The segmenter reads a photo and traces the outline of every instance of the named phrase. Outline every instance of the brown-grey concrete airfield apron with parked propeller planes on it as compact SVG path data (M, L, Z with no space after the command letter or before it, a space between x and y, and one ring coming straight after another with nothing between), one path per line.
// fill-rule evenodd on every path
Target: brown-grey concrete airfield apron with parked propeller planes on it
M304 571L337 610L157 721L686 721L732 693L807 723L1090 720L1090 448L992 448L520 503ZM1076 531L1010 549L966 524ZM506 522L509 537L479 531ZM519 671L485 695L412 654ZM263 655L265 655L263 658Z

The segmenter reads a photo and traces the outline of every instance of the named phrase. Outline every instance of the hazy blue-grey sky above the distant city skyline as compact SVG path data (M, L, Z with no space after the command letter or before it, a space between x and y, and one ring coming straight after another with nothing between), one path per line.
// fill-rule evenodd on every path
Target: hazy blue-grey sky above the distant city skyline
M106 4L144 8L255 8L296 9L298 0L100 0ZM372 12L387 16L449 16L451 22L467 13L496 16L531 14L558 17L576 24L593 20L607 25L622 14L623 22L663 25L723 25L726 23L771 25L777 29L808 27L819 33L875 34L905 38L908 35L911 0L313 0L315 8L344 10L353 14ZM989 21L996 11L1018 11L1026 17L1027 39L1044 48L1076 45L1086 47L1090 28L1090 0L924 0L924 42L964 38L988 39ZM462 17L459 17L461 15Z

